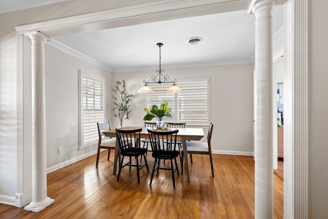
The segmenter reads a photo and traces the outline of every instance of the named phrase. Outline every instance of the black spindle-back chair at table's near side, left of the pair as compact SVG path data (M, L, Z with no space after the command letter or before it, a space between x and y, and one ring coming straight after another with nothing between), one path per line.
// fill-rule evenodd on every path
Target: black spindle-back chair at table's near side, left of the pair
M140 183L139 170L142 167L146 166L147 171L149 172L148 164L147 164L147 160L146 160L146 156L145 156L147 149L140 148L140 137L139 136L140 136L141 131L142 131L142 129L120 130L120 129L115 128L116 137L117 137L117 141L118 141L118 145L119 145L119 149L120 149L120 155L122 156L120 164L119 164L117 181L118 181L119 175L121 173L121 169L125 166L129 166L130 170L131 170L131 167L137 167L138 183ZM123 165L125 156L128 156L130 158L130 161ZM145 164L139 165L139 160L138 160L139 156L144 156ZM136 165L132 165L131 157L135 157ZM141 161L140 161L140 163L141 163Z

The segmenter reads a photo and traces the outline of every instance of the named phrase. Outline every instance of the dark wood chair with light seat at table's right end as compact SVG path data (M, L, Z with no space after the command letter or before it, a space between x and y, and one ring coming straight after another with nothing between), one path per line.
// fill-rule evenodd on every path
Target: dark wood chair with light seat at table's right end
M213 158L212 158L212 148L211 148L211 138L213 132L213 124L210 124L209 132L207 135L207 143L199 141L188 141L187 142L187 153L190 154L190 162L193 163L192 154L205 154L210 156L212 176L214 177L213 168ZM183 163L183 153L182 153L182 163ZM183 165L181 167L181 172L183 173Z

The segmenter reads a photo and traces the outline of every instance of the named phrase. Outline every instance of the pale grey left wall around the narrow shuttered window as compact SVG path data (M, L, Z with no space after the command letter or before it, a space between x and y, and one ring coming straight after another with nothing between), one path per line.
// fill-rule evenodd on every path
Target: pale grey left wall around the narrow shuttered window
M97 147L78 147L78 69L106 79L106 115L110 112L111 73L59 51L49 45L46 51L47 168L68 162ZM57 153L62 148L61 154Z

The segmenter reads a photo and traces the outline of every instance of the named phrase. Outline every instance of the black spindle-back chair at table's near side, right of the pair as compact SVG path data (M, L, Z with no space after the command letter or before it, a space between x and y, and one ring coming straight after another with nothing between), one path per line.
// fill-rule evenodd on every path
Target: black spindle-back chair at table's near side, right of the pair
M171 170L172 172L172 180L173 180L173 188L175 188L175 180L174 180L174 172L176 171L179 175L179 169L176 162L176 157L179 156L179 151L176 150L176 133L179 130L174 131L153 131L148 130L148 135L150 139L150 145L152 147L152 157L155 158L154 166L152 170L152 175L150 178L150 185L152 185L154 172L157 170L157 174L159 169L161 170ZM158 141L159 140L159 141ZM171 147L168 147L168 144L165 142L171 141ZM160 160L171 160L171 168L160 167ZM175 168L173 167L173 160L175 163Z

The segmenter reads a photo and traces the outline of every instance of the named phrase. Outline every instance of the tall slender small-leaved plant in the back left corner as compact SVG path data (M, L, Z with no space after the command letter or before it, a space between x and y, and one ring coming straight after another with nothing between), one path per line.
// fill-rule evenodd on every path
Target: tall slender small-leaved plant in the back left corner
M112 103L115 105L112 109L113 116L119 119L119 124L122 127L123 120L125 118L127 120L130 118L131 97L133 95L128 94L125 80L123 80L123 82L116 82L112 91L115 93L115 95L112 95L112 98L114 99Z

